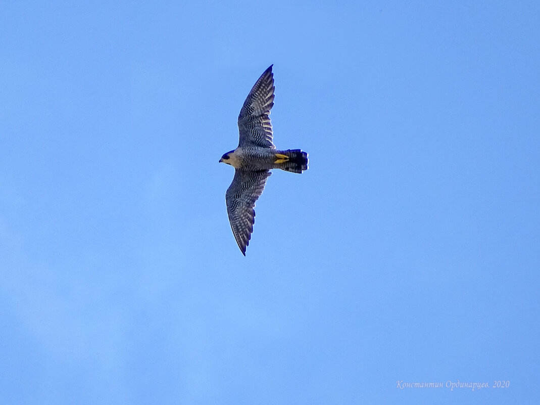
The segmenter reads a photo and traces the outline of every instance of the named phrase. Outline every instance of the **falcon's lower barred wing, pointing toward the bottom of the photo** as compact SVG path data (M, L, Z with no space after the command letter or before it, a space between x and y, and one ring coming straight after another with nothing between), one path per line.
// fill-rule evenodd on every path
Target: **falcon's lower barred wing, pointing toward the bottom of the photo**
M244 256L253 232L255 201L262 194L269 175L271 173L268 170L245 171L237 169L234 172L233 182L225 194L231 228Z

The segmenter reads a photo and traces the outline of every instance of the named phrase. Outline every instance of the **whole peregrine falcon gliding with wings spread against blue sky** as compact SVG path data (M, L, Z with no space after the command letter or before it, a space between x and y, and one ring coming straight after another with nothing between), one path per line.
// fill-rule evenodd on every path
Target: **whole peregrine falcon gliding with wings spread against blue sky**
M270 110L274 105L271 65L259 77L238 116L240 142L219 162L234 167L234 178L225 194L227 214L238 247L244 256L255 222L255 201L265 188L271 169L301 173L307 170L307 153L300 149L276 150L272 142Z

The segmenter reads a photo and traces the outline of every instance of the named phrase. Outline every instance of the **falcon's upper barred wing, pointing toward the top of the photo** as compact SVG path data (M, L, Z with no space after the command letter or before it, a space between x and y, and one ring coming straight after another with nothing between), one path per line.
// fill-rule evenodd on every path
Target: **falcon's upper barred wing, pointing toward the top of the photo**
M274 105L274 75L271 65L259 77L247 95L238 116L240 142L238 146L254 145L275 149L272 143L270 109Z

